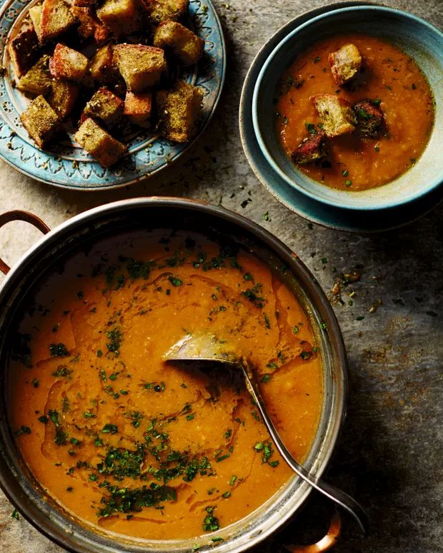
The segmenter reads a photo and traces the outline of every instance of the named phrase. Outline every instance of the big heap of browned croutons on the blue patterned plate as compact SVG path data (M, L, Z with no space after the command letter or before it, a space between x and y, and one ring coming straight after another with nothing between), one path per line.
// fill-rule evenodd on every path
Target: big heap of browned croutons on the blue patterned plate
M15 86L34 98L21 122L39 148L74 122L104 167L127 151L128 124L171 141L196 131L203 95L181 81L204 41L184 26L189 0L44 0L9 41Z

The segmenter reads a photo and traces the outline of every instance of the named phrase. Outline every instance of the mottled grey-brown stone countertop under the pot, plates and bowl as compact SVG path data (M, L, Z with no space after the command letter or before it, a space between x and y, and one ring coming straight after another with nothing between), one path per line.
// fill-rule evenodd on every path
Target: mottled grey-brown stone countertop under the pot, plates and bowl
M308 225L277 203L242 151L237 121L242 82L264 41L294 16L324 2L215 4L227 39L227 83L209 128L181 162L144 183L96 193L51 188L0 162L0 211L30 210L53 228L76 213L119 199L199 198L238 211L277 235L327 292L337 274L357 266L360 280L344 289L343 305L334 303L349 352L350 390L328 480L367 508L372 532L360 537L354 522L344 517L334 551L443 552L443 206L400 230L367 237ZM386 4L442 25L441 0ZM1 256L14 263L38 237L30 225L10 223L1 229ZM372 305L378 306L374 313ZM314 520L321 503L312 494L298 522L277 539L294 543L322 535L322 525ZM0 493L0 551L63 551L23 517L12 518L13 509ZM257 552L278 550L276 542L269 542Z

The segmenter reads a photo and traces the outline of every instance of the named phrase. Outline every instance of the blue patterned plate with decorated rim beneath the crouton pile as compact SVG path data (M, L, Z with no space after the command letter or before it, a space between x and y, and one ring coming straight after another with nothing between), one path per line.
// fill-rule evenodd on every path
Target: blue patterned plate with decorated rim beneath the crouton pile
M29 102L11 84L6 40L20 29L29 7L38 0L0 0L1 59L6 71L0 77L0 156L11 166L44 183L74 190L119 188L151 176L176 161L192 146L214 113L224 83L226 52L221 24L210 0L190 0L189 17L194 32L204 39L201 62L181 73L184 81L204 92L203 115L195 138L184 144L159 138L154 131L140 131L124 137L129 155L105 169L83 148L66 138L41 151L21 125L19 115Z

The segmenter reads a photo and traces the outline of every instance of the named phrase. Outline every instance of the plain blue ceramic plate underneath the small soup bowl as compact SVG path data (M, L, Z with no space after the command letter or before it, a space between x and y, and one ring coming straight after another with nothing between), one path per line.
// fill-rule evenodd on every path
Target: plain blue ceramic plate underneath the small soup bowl
M357 233L374 233L382 230L398 228L412 222L429 210L432 210L442 199L442 186L425 194L413 203L387 208L382 210L356 211L345 208L328 206L310 198L306 194L290 186L289 183L279 176L264 157L257 138L255 136L252 123L252 98L254 87L257 83L262 67L275 47L298 26L306 23L310 19L325 14L337 8L346 8L347 6L374 6L367 2L342 2L340 4L331 4L319 9L308 11L301 16L289 21L288 24L279 29L274 36L263 46L254 59L249 69L247 78L244 82L242 98L240 101L240 133L244 152L247 156L252 170L259 181L262 182L269 193L277 198L278 201L287 206L298 215L311 220L314 223L335 228L337 230L347 230Z

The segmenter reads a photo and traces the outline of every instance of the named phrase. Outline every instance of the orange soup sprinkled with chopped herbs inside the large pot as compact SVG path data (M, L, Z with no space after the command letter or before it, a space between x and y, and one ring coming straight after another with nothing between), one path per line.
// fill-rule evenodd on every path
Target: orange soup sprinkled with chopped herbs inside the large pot
M9 362L9 422L29 469L84 522L134 537L214 532L292 476L239 375L168 366L209 330L256 367L302 461L322 409L307 315L258 258L192 233L103 240L44 281Z

